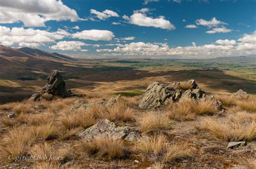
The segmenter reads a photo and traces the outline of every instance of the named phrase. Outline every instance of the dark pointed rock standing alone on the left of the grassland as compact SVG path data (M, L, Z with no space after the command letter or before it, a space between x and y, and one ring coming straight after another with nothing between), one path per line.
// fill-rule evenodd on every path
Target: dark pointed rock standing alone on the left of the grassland
M49 94L51 96L67 97L71 95L71 91L66 90L65 81L60 75L59 71L53 71L49 77L47 83L45 83L43 89L36 94L33 94L29 100L38 101L42 99L42 95Z

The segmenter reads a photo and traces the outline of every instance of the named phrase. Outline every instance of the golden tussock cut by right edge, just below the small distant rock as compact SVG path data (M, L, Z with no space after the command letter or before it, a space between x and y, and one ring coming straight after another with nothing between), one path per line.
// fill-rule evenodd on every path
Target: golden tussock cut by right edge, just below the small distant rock
M255 98L247 98L244 100L238 100L237 106L241 110L245 110L248 112L256 112L256 99Z

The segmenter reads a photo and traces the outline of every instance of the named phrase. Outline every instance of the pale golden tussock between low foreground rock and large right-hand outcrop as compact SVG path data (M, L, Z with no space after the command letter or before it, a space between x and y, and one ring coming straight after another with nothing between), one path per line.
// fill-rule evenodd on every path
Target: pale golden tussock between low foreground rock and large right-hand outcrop
M167 118L166 115L160 115L154 112L147 112L147 114L139 120L139 125L144 134L157 130L171 129L169 118Z

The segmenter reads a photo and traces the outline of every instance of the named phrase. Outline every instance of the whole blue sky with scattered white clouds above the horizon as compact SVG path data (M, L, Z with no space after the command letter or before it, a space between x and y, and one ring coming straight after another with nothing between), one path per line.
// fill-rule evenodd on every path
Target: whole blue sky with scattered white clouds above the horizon
M2 0L0 44L86 59L256 55L256 0Z

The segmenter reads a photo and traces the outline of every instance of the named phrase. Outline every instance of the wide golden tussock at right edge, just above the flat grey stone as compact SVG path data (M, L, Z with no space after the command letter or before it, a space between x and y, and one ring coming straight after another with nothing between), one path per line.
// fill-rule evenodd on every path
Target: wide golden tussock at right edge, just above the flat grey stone
M201 124L201 129L210 132L213 136L226 141L252 140L256 138L255 116L230 115L228 121L221 121L207 117ZM250 118L253 118L250 120Z

